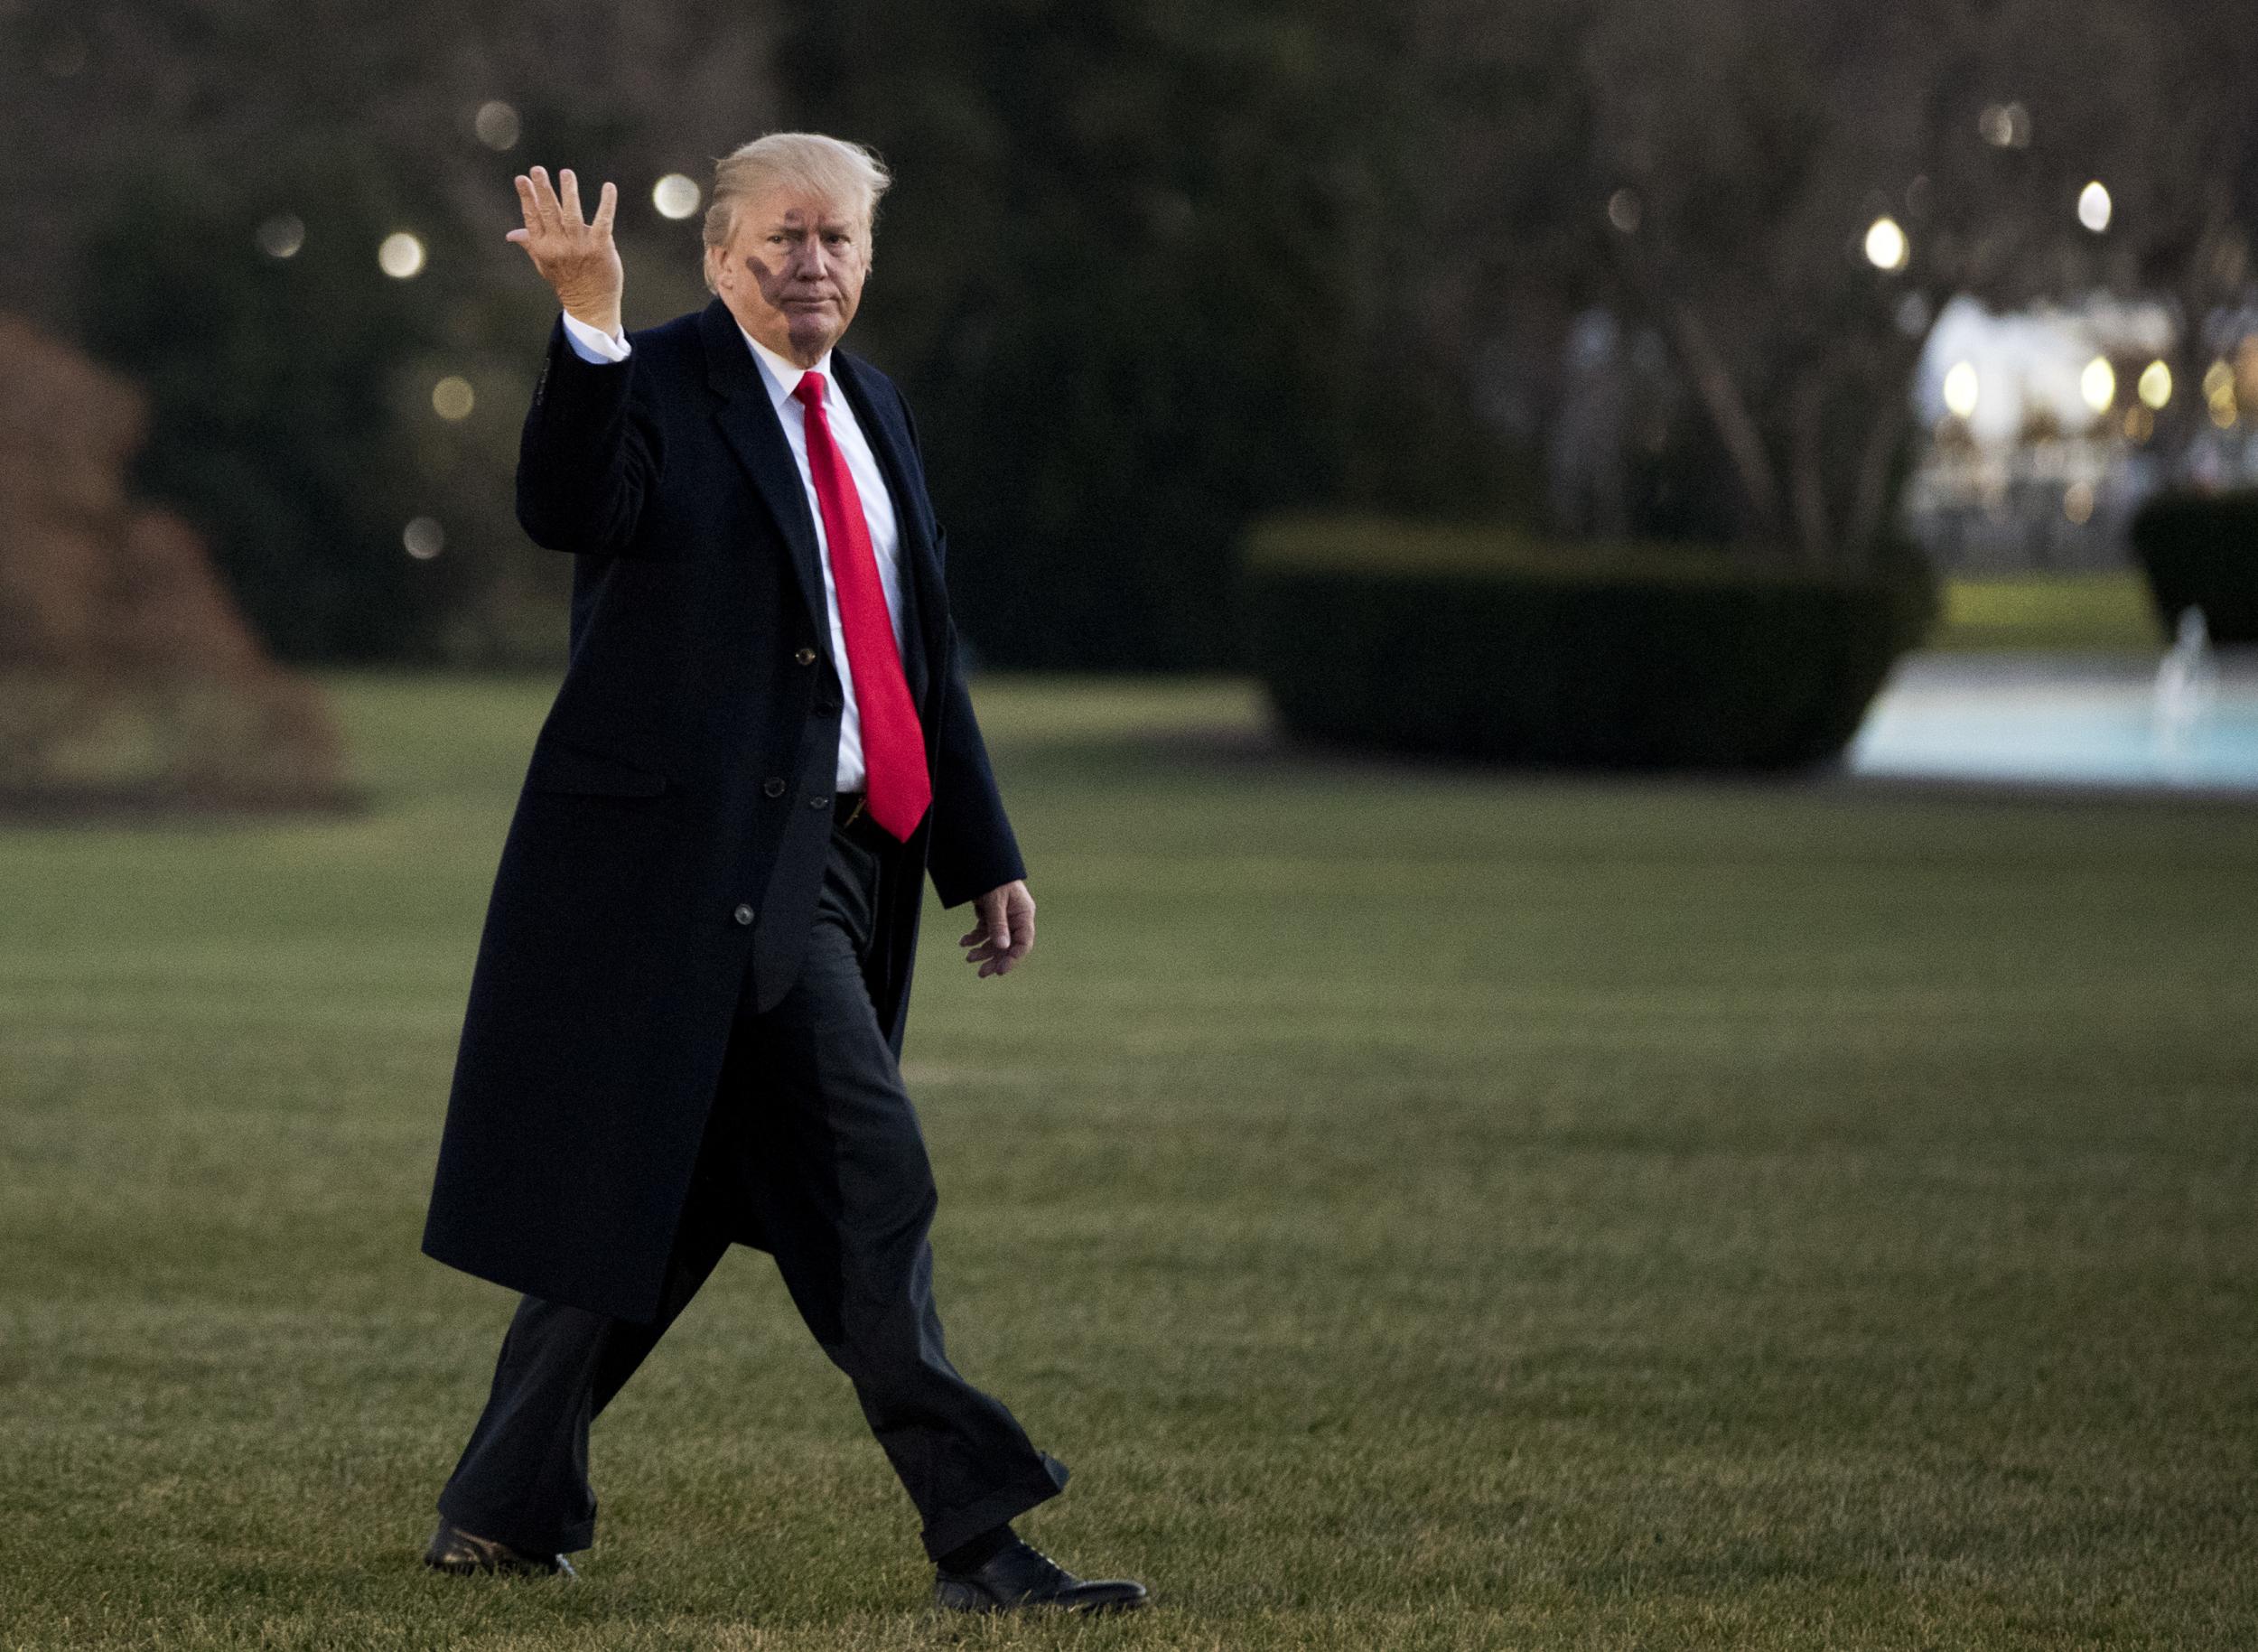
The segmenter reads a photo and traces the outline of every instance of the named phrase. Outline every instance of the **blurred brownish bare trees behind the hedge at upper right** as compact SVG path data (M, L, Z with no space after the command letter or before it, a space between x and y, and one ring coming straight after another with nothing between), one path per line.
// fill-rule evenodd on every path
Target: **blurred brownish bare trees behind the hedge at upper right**
M1461 50L1479 27L1443 25L1470 11L1432 0ZM1951 296L2161 293L2199 352L2204 314L2244 280L2258 36L2235 7L1558 0L1551 16L1574 20L1576 153L1538 174L1549 201L1488 228L1481 302L1529 307L1549 284L1563 309L1601 305L1666 348L1673 386L1644 381L1655 449L1714 460L1730 487L1678 487L1675 521L1635 528L1885 560L1913 370ZM2100 235L2077 214L2098 178ZM1544 255L1515 257L1531 244ZM2202 359L2181 375L2193 386Z

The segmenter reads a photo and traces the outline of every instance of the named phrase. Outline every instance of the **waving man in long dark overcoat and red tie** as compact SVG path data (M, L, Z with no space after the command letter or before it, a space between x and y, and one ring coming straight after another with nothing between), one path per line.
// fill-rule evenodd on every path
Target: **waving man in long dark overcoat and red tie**
M425 1559L569 1573L589 1420L732 1241L770 1250L924 1517L935 1600L1122 1609L1012 1519L1066 1483L948 1363L899 1072L924 876L982 977L1034 900L957 661L917 429L838 352L890 178L835 138L718 165L714 302L621 334L616 190L517 178L564 314L517 515L578 557L470 988L425 1230L524 1293Z

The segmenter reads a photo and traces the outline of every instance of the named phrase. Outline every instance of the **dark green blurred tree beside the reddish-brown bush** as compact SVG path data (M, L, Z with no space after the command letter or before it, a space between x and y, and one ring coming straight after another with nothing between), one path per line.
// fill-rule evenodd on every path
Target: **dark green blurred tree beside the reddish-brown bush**
M429 289L368 255L400 221L382 178L350 153L312 176L273 192L307 212L269 230L303 237L289 260L264 255L205 181L138 178L90 235L81 336L149 393L138 481L205 528L266 643L393 659L422 652L456 596L458 564L404 555L404 524L443 519L411 463L413 408L388 384L440 329Z

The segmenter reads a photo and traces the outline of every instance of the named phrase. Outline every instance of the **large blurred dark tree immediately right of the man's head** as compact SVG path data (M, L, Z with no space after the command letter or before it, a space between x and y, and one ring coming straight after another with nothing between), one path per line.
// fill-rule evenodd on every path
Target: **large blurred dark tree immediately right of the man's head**
M901 187L858 341L919 411L966 627L1023 666L1213 666L1249 517L1495 503L1429 352L1414 65L1353 0L802 2L795 122Z

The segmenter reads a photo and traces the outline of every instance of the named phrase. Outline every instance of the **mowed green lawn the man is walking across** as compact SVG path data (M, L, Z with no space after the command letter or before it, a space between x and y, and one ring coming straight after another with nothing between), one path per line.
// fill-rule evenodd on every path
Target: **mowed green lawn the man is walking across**
M2258 1643L2258 815L1280 752L982 686L933 916L960 1363L1156 1607L964 1623L768 1259L583 1580L415 1564L508 1298L415 1253L542 684L343 679L350 819L0 831L0 1645Z

